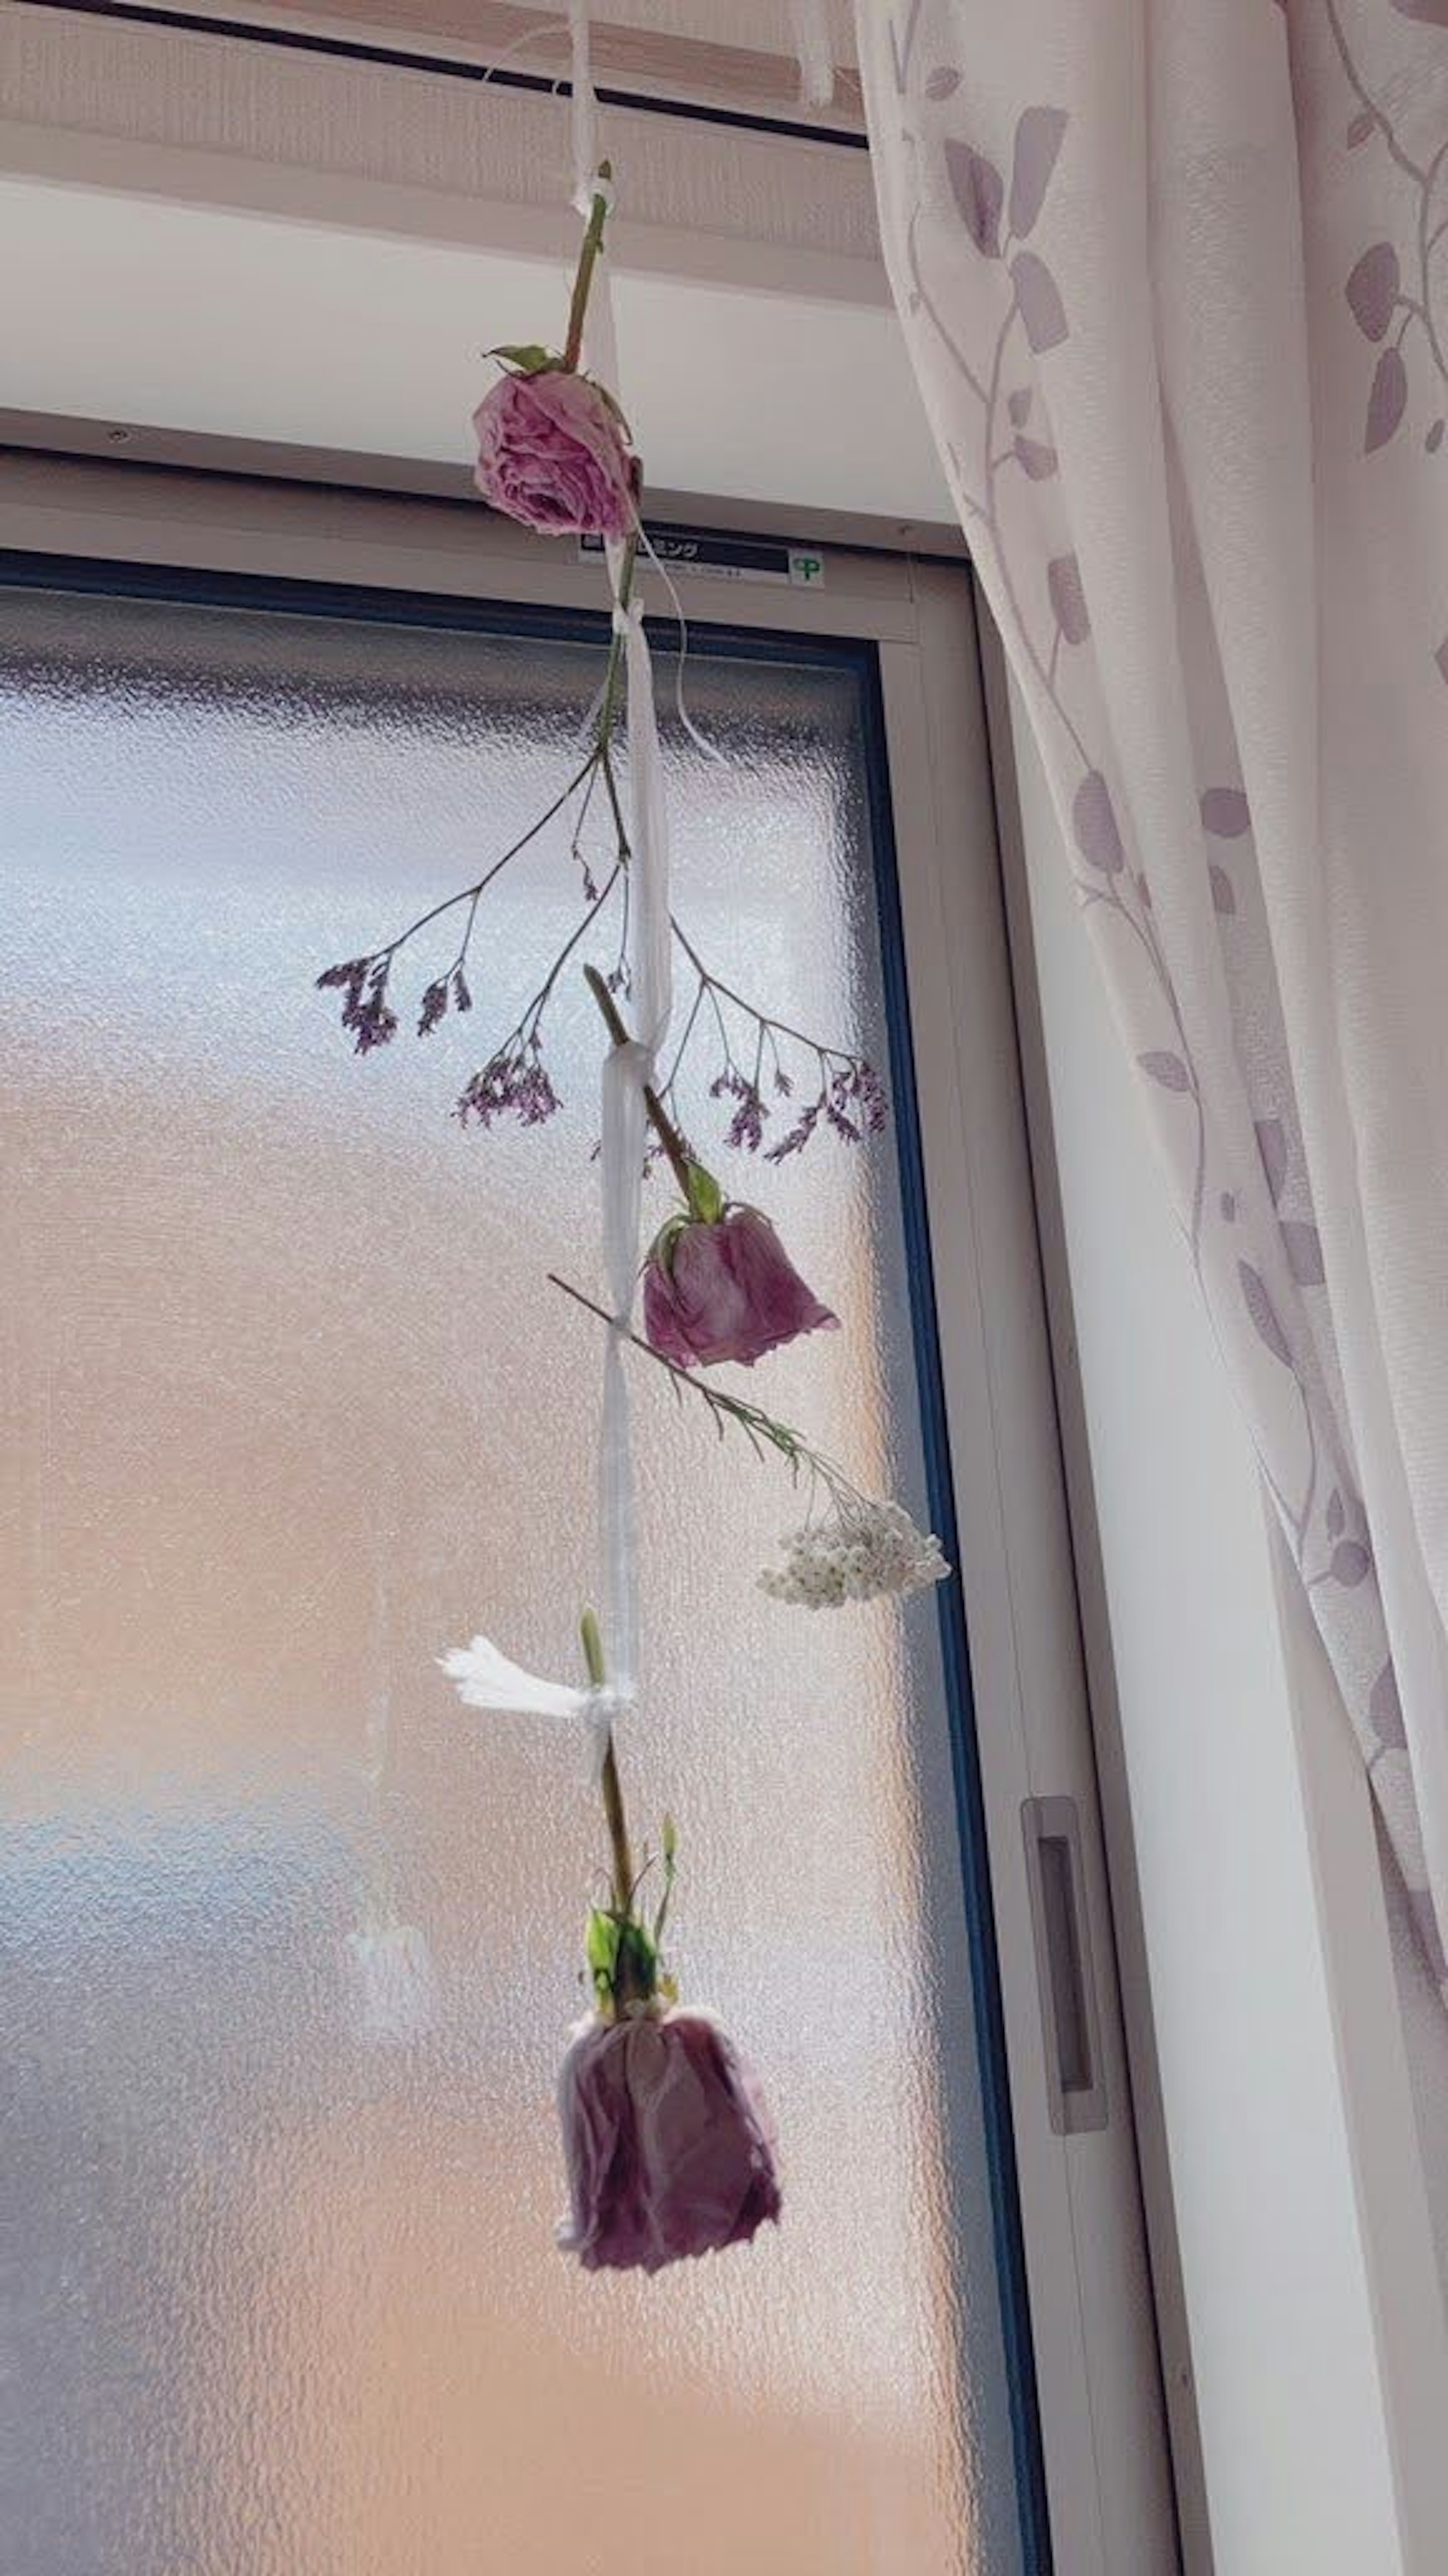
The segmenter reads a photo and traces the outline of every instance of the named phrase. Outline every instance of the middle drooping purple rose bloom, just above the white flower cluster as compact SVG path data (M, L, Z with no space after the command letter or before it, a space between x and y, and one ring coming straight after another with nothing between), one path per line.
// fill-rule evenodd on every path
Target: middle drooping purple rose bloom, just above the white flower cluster
M644 1332L675 1368L752 1365L801 1332L837 1324L757 1208L665 1226L644 1262Z

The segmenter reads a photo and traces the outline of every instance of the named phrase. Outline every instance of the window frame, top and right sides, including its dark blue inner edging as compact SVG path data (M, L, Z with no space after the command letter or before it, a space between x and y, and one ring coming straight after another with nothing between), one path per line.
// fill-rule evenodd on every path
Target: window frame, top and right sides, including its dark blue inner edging
M747 528L739 528L747 533ZM598 631L598 564L474 505L142 464L10 459L0 580L497 631ZM951 1754L1031 2576L1177 2566L1162 2378L1082 1677L1020 1074L982 629L969 567L822 546L819 587L688 580L691 644L850 662L866 724L902 1203L938 1528ZM654 585L657 587L657 585ZM291 592L291 595L289 595ZM662 608L662 600L660 600ZM891 917L897 914L897 920ZM953 1497L953 1502L951 1502ZM956 1589L956 1587L951 1587ZM951 1633L953 1631L953 1633ZM1051 2123L1023 1847L1080 1821L1108 2125ZM1038 2442L1036 2442L1038 2427Z

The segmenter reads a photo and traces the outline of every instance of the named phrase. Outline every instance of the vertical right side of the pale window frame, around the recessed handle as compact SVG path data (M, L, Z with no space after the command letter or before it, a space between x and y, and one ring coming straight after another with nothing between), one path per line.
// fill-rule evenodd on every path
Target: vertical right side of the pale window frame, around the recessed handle
M1152 2280L974 585L951 567L917 564L915 598L915 649L881 644L881 683L1051 2524L1069 2576L1098 2568L1103 2576L1167 2576L1177 2566L1177 2540L1167 2445L1157 2439ZM1098 1968L1110 2123L1074 2138L1051 2130L1031 1963L1020 1806L1041 1795L1067 1795L1077 1806ZM1062 2280L1072 2282L1069 2300ZM1077 2391L1085 2391L1085 2409L1072 2403ZM1087 2496L1095 2499L1090 2519Z

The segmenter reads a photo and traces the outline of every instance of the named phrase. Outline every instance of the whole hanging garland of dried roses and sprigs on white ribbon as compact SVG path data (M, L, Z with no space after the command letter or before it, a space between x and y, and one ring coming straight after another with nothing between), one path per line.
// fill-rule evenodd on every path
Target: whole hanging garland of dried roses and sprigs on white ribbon
M806 1492L804 1525L788 1533L783 1566L765 1569L760 1587L806 1607L904 1595L935 1584L948 1571L938 1540L922 1535L894 1502L861 1494L812 1443L773 1414L711 1383L703 1370L734 1360L755 1365L799 1334L837 1329L837 1316L814 1296L788 1260L773 1224L750 1206L732 1203L714 1172L693 1154L678 1123L678 1082L701 1033L711 1033L719 1061L709 1082L729 1105L727 1144L760 1151L778 1103L791 1103L788 1128L765 1146L770 1162L804 1151L822 1131L858 1144L884 1123L884 1090L861 1056L827 1046L765 1012L724 984L667 912L667 848L662 799L649 804L647 762L654 762L652 680L642 613L634 598L642 466L616 392L582 371L587 299L603 252L611 204L608 165L593 183L587 232L575 276L562 353L544 345L492 350L500 381L474 412L477 484L484 497L541 536L590 533L611 549L613 644L608 652L593 739L567 786L544 814L484 873L459 894L433 904L384 948L327 966L317 984L343 994L343 1028L358 1054L392 1043L399 1028L392 974L399 953L433 925L461 914L459 945L423 987L417 1036L472 1012L469 958L490 886L549 824L572 819L572 860L580 871L582 912L546 969L518 1025L492 1048L466 1082L456 1115L490 1128L497 1118L541 1126L559 1108L546 1061L546 1012L559 979L618 904L618 948L611 974L585 963L611 1041L605 1077L603 1188L605 1247L616 1311L554 1278L608 1332L603 1492L613 1525L613 1582L629 1566L621 1625L631 1628L631 1471L626 1406L621 1394L624 1345L665 1368L675 1388L709 1404L719 1432L742 1430L755 1453L783 1458ZM621 706L629 701L629 752L634 827L616 770ZM634 739L642 719L642 750ZM611 827L611 860L598 868L585 850L585 829L598 809ZM636 884L636 894L634 894ZM667 1069L654 1072L654 1051L670 1018L670 948L693 979L683 1033ZM636 956L649 987L644 1020L631 1036L618 999L631 999ZM660 966L662 953L662 966ZM662 1005L660 1005L662 997ZM801 1066L809 1082L801 1087ZM624 1113L621 1103L631 1103ZM642 1118L639 1118L642 1110ZM639 1123L629 1123L636 1118ZM631 1177L618 1167L621 1136L634 1139ZM639 1249L639 1159L667 1164L678 1206L665 1218L642 1265L644 1334L631 1329ZM611 1195L613 1193L613 1195ZM624 1265L618 1229L624 1226ZM618 1600L616 1600L618 1613ZM665 1924L675 1883L675 1829L665 1821L660 1855L634 1860L616 1721L631 1705L631 1674L608 1674L603 1633L593 1613L582 1618L587 1685L549 1682L513 1664L487 1636L441 1656L443 1672L469 1708L518 1710L582 1726L595 1747L598 1788L608 1826L608 1901L587 1914L585 1958L593 2009L575 2030L559 2079L559 2120L569 2179L569 2215L559 2244L587 2269L644 2269L750 2244L763 2221L781 2213L781 2184L768 2112L745 2058L709 2012L685 2009L665 1965ZM649 1917L644 1886L657 1870ZM371 1950L366 1958L371 1965ZM392 1971L392 1953L384 1965ZM386 2007L394 2012L394 2002Z

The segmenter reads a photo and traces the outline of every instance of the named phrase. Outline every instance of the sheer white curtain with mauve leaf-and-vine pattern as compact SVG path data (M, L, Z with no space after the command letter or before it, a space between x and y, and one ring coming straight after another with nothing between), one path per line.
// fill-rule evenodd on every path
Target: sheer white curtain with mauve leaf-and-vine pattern
M1448 0L858 33L910 355L1445 1986Z

